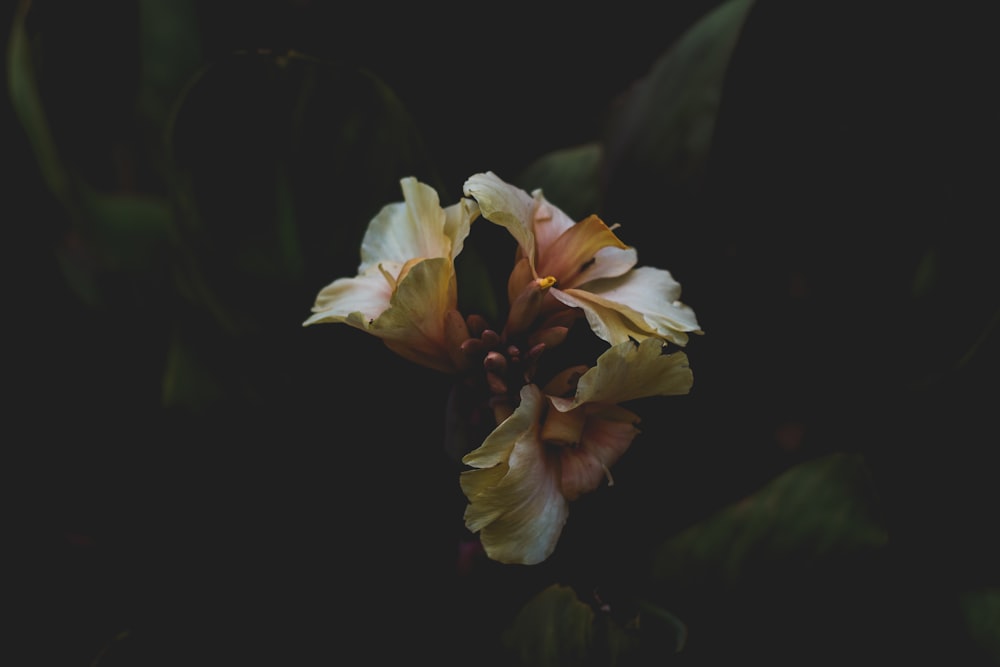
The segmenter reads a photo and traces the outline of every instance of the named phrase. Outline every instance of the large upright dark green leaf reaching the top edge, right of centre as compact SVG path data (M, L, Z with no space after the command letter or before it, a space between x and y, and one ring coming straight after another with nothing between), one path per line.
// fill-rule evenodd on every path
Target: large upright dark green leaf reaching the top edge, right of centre
M697 191L704 179L730 55L752 0L706 14L622 100L607 132L607 171L643 187Z

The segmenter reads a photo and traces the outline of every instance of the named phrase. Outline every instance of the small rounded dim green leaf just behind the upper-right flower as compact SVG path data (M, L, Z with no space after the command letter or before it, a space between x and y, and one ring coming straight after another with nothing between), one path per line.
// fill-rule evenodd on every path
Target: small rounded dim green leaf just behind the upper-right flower
M553 151L528 165L517 183L528 192L541 188L546 199L582 220L601 208L602 157L599 143Z

